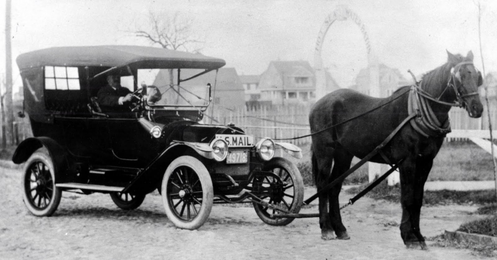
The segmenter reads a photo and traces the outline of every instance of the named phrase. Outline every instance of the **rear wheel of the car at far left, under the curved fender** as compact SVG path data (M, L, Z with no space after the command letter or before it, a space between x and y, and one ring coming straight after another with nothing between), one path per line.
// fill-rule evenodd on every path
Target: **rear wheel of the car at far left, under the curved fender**
M62 190L55 186L52 159L40 150L27 160L22 172L22 201L38 217L51 216L57 210Z

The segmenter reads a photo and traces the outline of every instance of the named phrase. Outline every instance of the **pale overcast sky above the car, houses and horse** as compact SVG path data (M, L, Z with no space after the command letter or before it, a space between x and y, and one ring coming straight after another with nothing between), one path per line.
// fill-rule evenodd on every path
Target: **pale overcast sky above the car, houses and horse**
M447 54L475 54L482 70L476 0L12 0L12 58L53 46L150 45L126 32L143 23L149 10L179 11L205 41L204 55L226 60L239 75L261 74L273 60L307 60L326 16L345 4L365 24L379 61L406 77L445 63ZM497 71L497 1L481 0L485 71ZM0 13L5 13L1 3ZM1 15L4 17L4 15ZM0 72L5 73L4 19ZM367 66L366 47L352 21L331 25L323 60L341 87L353 84ZM2 76L3 77L3 76Z

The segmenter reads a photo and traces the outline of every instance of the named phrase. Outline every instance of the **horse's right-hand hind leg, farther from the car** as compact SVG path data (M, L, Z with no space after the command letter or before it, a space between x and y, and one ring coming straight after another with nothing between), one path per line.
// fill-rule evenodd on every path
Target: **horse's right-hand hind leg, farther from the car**
M352 158L354 156L345 151L344 149L336 149L333 156L333 170L331 171L331 179L334 180L343 173L345 173L348 169L350 169L350 163L352 162ZM340 194L342 187L342 182L337 183L333 188L331 188L331 192L329 192L329 200L330 200L330 220L331 227L335 231L335 235L337 239L350 239L350 236L347 233L347 229L343 226L340 215L340 204L338 201L338 195Z

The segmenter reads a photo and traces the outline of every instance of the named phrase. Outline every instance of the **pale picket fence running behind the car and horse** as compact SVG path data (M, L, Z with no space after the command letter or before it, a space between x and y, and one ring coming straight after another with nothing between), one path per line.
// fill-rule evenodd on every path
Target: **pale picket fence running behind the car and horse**
M309 112L311 104L272 105L259 107L240 107L228 109L217 106L212 111L206 111L204 123L227 125L229 123L242 128L246 133L258 138L269 137L302 146L311 142L311 137L292 138L310 134ZM497 108L490 111L493 129L497 128ZM452 108L449 112L450 122L454 130L488 130L487 110L481 118L470 118L464 109ZM357 119L360 120L360 119ZM31 137L31 127L26 118L17 118L14 123L14 140L9 144L19 144ZM0 136L1 138L1 136ZM448 138L447 141L463 141L466 138Z

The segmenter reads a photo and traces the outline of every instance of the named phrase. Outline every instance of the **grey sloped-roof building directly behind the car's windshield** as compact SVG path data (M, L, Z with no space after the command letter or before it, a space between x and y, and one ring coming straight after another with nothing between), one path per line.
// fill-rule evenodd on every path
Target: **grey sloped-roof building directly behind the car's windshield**
M186 79L202 71L183 70L181 71L181 78ZM216 71L211 71L202 77L189 80L188 83L205 86L210 83L212 85L211 96L213 97L211 104L229 109L245 106L244 87L235 68L220 68L217 73L217 80L215 76ZM176 82L176 79L174 79L174 82ZM169 72L168 70L160 70L155 78L154 85L162 86L166 84L169 84Z

